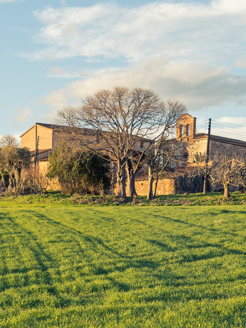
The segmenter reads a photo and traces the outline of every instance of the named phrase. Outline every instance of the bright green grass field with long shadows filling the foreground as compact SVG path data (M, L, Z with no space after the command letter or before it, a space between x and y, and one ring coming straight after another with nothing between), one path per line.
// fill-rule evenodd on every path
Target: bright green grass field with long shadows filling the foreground
M245 327L246 207L0 202L0 327Z

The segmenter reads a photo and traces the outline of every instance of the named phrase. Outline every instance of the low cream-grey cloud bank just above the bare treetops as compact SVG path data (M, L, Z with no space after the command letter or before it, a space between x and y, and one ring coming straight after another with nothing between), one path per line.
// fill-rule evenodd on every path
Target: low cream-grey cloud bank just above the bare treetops
M246 96L246 77L233 76L224 66L214 67L203 61L171 62L160 57L73 81L46 95L44 101L55 115L63 106L77 105L86 94L115 85L150 88L163 99L181 99L191 111L228 102L243 103Z

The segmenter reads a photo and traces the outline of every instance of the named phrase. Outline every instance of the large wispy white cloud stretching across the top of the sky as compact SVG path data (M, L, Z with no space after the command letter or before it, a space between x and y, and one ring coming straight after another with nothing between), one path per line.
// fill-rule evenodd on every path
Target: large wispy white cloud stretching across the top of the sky
M73 56L127 58L136 62L160 55L217 56L234 53L245 40L246 2L150 3L46 7L34 15L43 23L36 41L48 45L29 59Z

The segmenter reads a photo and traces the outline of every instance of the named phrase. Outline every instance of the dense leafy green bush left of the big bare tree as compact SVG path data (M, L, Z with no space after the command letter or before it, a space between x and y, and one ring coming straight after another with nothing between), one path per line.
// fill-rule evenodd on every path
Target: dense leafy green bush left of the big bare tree
M57 178L64 194L101 192L101 187L109 188L108 165L87 150L78 150L67 146L65 141L49 155L47 176Z

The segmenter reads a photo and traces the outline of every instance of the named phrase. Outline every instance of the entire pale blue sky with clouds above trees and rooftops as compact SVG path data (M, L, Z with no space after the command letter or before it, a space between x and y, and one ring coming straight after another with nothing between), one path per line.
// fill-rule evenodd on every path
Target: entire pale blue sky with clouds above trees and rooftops
M246 1L0 0L0 25L0 134L121 85L246 140Z

